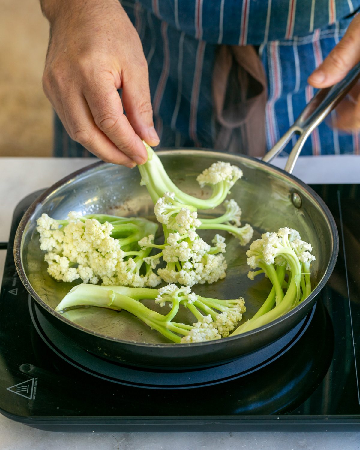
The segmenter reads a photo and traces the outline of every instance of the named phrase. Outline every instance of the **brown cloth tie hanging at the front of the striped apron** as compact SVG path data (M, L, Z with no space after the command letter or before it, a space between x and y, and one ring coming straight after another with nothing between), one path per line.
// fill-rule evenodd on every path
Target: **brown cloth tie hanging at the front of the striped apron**
M263 156L266 152L266 75L252 45L220 45L212 76L215 148Z

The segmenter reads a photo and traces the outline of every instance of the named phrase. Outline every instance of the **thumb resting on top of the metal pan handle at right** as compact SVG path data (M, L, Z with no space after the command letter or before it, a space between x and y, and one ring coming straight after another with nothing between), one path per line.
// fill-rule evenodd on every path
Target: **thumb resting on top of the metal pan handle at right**
M332 86L341 81L359 61L360 15L357 15L350 23L342 40L309 76L308 82L316 88Z

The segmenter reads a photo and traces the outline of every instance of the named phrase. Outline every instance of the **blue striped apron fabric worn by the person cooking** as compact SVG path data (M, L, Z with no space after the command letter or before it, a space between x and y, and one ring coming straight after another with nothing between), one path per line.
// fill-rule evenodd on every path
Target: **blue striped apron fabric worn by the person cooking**
M307 77L344 35L360 0L121 0L148 61L162 147L211 148L216 134L211 79L219 44L255 45L268 79L271 148L314 95ZM359 134L322 123L302 154L359 153ZM251 136L249 137L251 139ZM287 153L291 145L285 149ZM56 156L88 156L55 126Z

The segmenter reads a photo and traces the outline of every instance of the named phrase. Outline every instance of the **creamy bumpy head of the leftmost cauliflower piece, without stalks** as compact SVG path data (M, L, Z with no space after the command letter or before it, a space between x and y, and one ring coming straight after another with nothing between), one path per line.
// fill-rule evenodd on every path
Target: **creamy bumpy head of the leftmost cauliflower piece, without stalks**
M41 248L48 252L45 261L51 266L49 274L59 281L81 278L83 283L97 284L102 279L103 284L137 287L145 284L154 287L160 282L151 270L144 276L139 274L144 259L139 258L139 267L131 258L124 261L130 255L123 252L118 239L112 238L114 226L107 221L79 218L76 212L70 212L69 220L54 220L43 214L37 225ZM129 231L129 236L130 233L136 231ZM147 245L152 239L153 234L150 234L140 242ZM135 248L130 254L137 253L138 248ZM149 258L148 262L154 269L159 260Z

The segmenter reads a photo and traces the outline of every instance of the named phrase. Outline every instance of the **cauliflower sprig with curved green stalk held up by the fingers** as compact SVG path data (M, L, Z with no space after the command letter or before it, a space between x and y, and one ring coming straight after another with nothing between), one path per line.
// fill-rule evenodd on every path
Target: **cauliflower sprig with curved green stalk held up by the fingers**
M252 238L250 225L240 227L241 210L234 200L225 201L226 212L217 218L198 218L198 209L212 209L224 202L229 189L242 176L237 166L227 162L216 162L197 178L200 186L212 186L212 195L203 200L185 194L178 189L167 175L162 162L146 143L148 161L139 166L145 184L155 203L154 212L164 230L164 244L154 245L153 236L139 241L139 245L161 250L147 258L155 269L160 260L166 262L165 268L157 274L166 283L193 284L214 283L225 278L227 264L222 253L225 252L225 238L216 234L211 247L197 233L199 229L222 230L233 234L242 245Z

